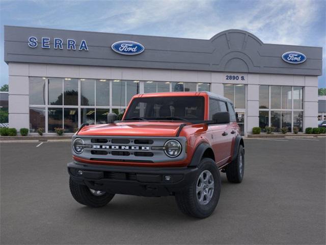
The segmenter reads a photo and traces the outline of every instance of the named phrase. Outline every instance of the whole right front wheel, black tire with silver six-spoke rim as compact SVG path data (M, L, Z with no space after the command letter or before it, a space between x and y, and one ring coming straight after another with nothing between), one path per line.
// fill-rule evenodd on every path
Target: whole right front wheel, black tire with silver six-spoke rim
M210 158L203 158L194 181L183 191L175 193L179 209L197 218L212 214L221 194L220 170Z

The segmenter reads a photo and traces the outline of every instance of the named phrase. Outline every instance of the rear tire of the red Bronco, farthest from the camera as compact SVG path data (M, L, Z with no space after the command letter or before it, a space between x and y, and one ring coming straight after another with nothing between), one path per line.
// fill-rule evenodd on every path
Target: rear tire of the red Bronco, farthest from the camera
M242 159L242 167L241 166ZM231 183L241 183L244 173L244 150L240 144L238 149L238 155L235 160L226 166L226 177Z

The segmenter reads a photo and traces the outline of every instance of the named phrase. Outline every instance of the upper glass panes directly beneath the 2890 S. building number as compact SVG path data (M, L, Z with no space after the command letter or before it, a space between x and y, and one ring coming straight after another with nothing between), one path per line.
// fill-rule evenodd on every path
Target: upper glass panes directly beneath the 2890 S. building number
M224 84L224 97L234 103L234 108L246 108L246 86L244 84Z

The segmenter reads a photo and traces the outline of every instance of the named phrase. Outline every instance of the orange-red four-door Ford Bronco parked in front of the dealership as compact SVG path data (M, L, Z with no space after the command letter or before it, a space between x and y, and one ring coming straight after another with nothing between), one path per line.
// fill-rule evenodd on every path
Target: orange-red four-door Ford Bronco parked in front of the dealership
M174 195L188 215L209 216L219 202L220 170L240 183L244 144L233 104L211 92L132 97L121 120L82 125L72 137L69 185L80 204L102 207L116 193Z

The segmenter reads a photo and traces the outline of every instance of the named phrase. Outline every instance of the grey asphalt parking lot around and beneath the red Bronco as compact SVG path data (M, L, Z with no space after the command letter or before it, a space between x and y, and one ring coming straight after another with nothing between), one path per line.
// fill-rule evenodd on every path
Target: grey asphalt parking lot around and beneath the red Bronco
M1 244L325 244L325 141L246 139L244 180L222 174L206 219L174 197L84 207L69 192L69 142L1 143Z

